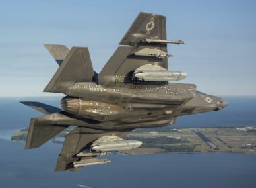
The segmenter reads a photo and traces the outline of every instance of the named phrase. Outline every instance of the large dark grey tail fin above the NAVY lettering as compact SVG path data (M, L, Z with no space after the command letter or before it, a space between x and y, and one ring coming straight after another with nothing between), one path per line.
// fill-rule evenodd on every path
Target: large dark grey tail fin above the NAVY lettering
M44 92L65 93L77 82L93 81L94 71L88 48L73 47Z

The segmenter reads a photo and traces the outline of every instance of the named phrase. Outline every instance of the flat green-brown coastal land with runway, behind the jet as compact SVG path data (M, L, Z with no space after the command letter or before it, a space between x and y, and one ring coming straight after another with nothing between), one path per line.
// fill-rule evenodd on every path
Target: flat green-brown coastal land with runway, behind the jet
M61 144L71 129L67 129L53 140ZM15 132L13 141L25 141L28 128ZM136 129L126 140L140 140L140 148L119 151L121 154L156 154L165 152L235 152L256 153L256 129L251 127Z

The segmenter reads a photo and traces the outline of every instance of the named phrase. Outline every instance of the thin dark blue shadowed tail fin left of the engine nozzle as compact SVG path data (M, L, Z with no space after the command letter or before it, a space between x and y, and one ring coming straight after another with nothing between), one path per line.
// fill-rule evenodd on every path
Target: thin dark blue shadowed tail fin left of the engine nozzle
M51 105L46 105L44 103L39 102L21 101L20 103L32 107L32 109L36 109L37 111L40 111L44 114L57 113L61 111L61 109L57 107L53 107Z

